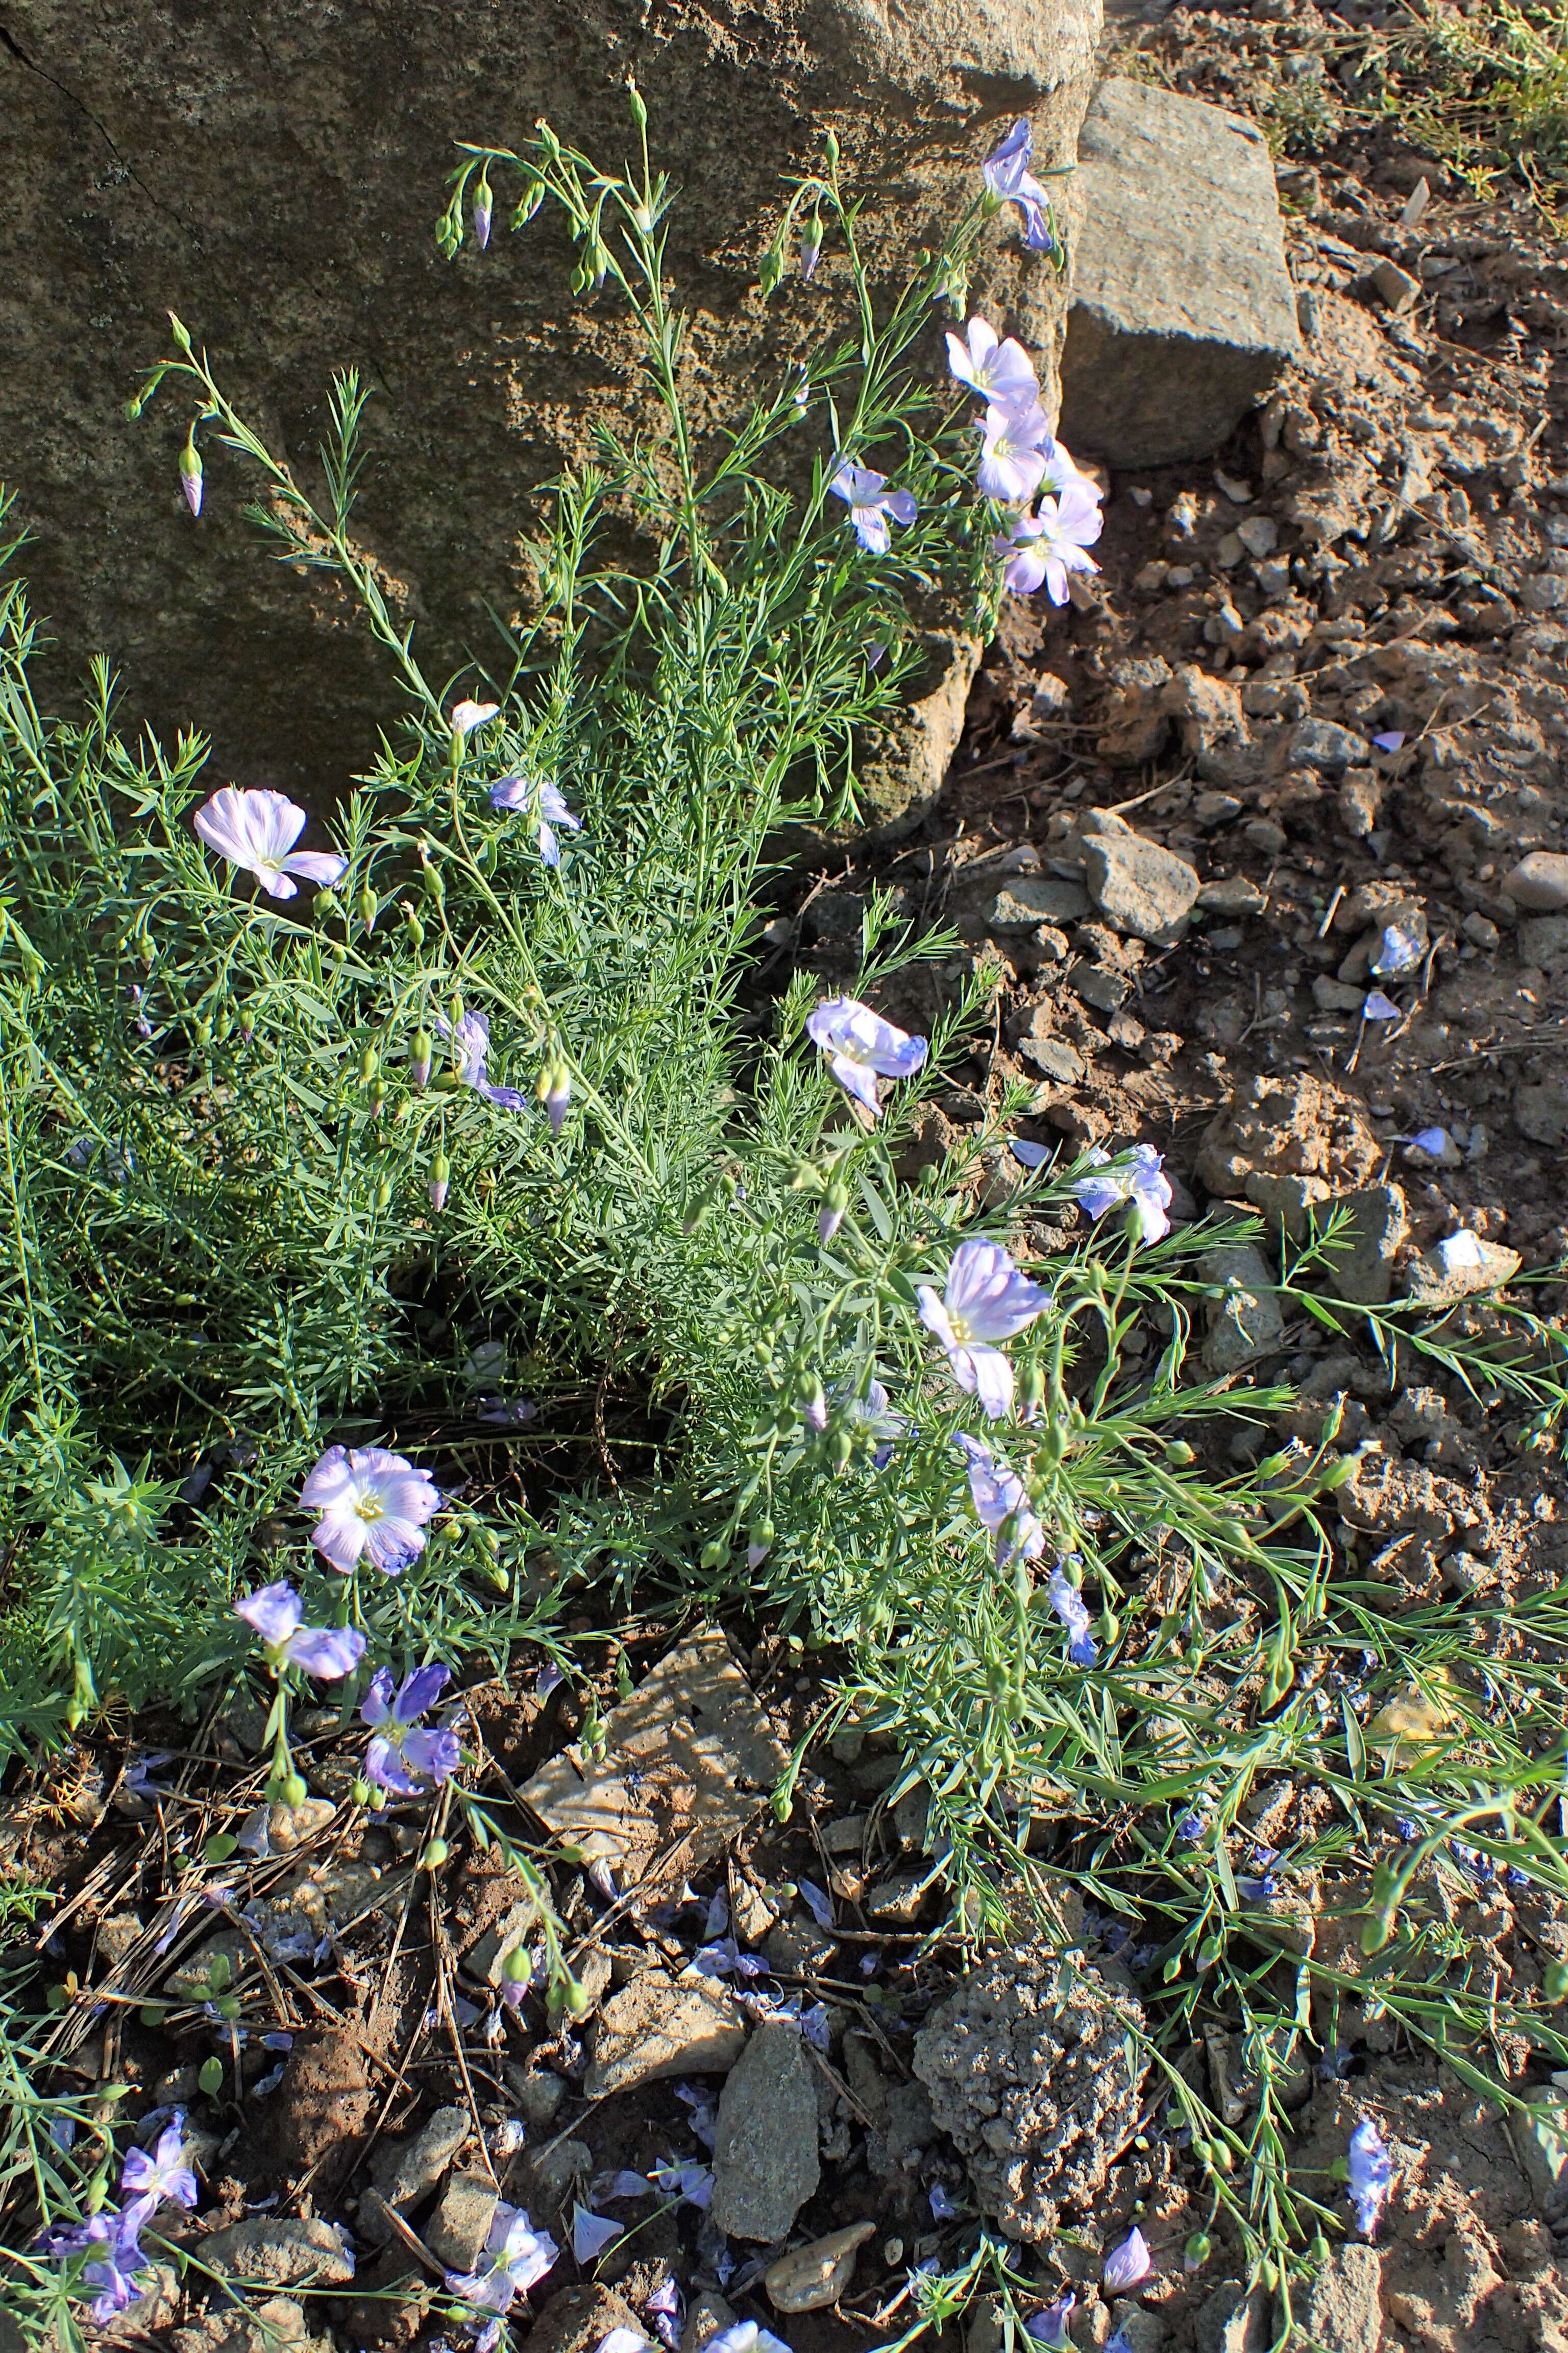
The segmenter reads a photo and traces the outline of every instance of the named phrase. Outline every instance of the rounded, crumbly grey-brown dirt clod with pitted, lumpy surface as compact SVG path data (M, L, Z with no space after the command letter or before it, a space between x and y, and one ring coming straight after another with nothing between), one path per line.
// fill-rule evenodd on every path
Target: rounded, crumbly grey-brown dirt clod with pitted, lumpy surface
M914 2073L1004 2238L1046 2240L1105 2186L1138 2120L1131 1993L1044 1944L997 1953L933 2009Z

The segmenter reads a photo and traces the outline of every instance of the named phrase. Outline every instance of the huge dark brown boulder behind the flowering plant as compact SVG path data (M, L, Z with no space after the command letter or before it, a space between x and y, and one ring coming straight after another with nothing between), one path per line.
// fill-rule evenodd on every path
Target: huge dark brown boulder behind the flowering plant
M360 532L397 624L418 621L435 675L475 652L505 664L484 600L527 600L529 492L588 454L599 419L644 412L625 315L574 301L574 249L545 214L512 240L498 191L489 252L470 238L456 266L440 259L451 141L515 146L548 115L614 167L635 75L679 191L668 264L710 433L842 318L832 245L816 285L792 280L766 308L755 292L780 184L818 162L823 129L849 181L870 179L860 240L891 285L969 202L1013 115L1034 122L1039 162L1072 160L1100 33L1100 0L541 0L470 9L461 40L421 0L26 0L7 16L0 447L38 529L52 685L73 689L108 649L127 720L207 727L221 772L317 795L371 755L386 673L331 584L259 551L240 520L252 482L221 452L190 520L183 409L125 424L165 306L306 480L331 367L364 369L378 400ZM1053 395L1065 282L1020 252L1011 214L973 294L1011 315Z

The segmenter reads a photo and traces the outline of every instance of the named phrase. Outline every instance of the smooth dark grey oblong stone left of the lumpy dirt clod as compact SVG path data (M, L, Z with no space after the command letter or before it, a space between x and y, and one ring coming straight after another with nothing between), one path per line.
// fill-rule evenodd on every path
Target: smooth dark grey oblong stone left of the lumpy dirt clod
M816 2073L795 2026L759 2026L719 2094L712 2219L780 2240L816 2191Z

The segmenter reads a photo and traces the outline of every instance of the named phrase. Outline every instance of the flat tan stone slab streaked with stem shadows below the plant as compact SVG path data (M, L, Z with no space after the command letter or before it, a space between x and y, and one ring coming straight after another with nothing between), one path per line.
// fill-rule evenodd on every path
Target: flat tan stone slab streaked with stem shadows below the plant
M752 1819L788 1753L722 1633L682 1642L611 1711L607 1751L550 1758L522 1795L559 1838L607 1861L621 1887L679 1894Z

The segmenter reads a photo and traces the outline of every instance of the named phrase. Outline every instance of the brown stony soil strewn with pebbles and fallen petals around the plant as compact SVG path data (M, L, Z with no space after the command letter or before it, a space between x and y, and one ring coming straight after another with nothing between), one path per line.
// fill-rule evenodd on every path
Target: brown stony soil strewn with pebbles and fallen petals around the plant
M1314 80L1298 64L1366 14L1175 9L1138 33L1135 71L1276 125L1281 87ZM1159 1144L1178 1212L1241 1200L1300 1233L1354 1195L1366 1297L1387 1297L1448 1280L1434 1249L1460 1228L1488 1271L1544 1268L1568 1245L1568 247L1519 191L1479 200L1396 125L1347 118L1316 155L1286 155L1279 184L1302 365L1218 461L1107 485L1100 579L1067 614L1009 614L943 807L917 838L790 887L769 976L790 960L844 976L865 892L898 889L961 944L912 988L973 960L994 974L990 1038L922 1148L1025 1075L1041 1141ZM1194 899L1173 946L1117 920L1131 887L1173 918ZM1418 953L1385 981L1396 1019L1363 1021L1389 925ZM1410 1146L1429 1129L1441 1144ZM1561 1471L1516 1421L1300 1327L1281 1327L1272 1362L1305 1391L1293 1428L1316 1435L1338 1398L1349 1435L1375 1442L1342 1532L1410 1605L1561 1581ZM639 1706L668 1642L661 1626L625 1638ZM296 1814L261 1807L247 1704L200 1732L139 1727L143 1751L169 1751L148 1793L82 1758L75 1779L14 1795L0 1854L63 1889L40 1934L61 1981L101 2005L61 2014L56 2054L85 2097L132 2082L197 2129L197 2268L183 2285L167 2271L122 2341L463 2341L440 2278L473 2261L496 2195L567 2249L534 2297L531 2353L578 2353L616 2322L675 2337L670 2282L684 2353L726 2311L797 2353L907 2325L910 2264L950 2264L976 2212L938 2052L954 1953L922 1944L938 1899L919 1807L884 1802L896 1758L849 1734L811 1753L788 1826L759 1814L757 1758L806 1729L818 1685L780 1642L731 1628L731 1649L745 1682L729 1671L717 1781L691 1767L654 1805L644 1748L611 1715L614 1802L646 1817L658 1901L646 1885L637 1904L607 1897L592 1849L564 1873L581 2021L548 2019L536 1991L503 2000L505 1951L531 1922L498 1864L418 1871L411 1814L348 1828L355 1762L331 1713L306 1722L313 1798ZM684 1722L710 1671L668 1678ZM578 1706L541 1694L529 1666L470 1694L503 1812L522 1788L550 1819L562 1767L524 1784L569 1746ZM214 1831L247 1842L205 1864ZM1267 1814L1258 1835L1274 1835ZM1455 1922L1505 1974L1528 1967L1523 1929L1568 1955L1568 1927L1523 1892L1476 1894ZM677 1984L693 1955L701 1974ZM1103 2000L1126 1998L1105 1960ZM806 2033L769 2033L771 2012ZM738 2068L748 2021L764 2031ZM1241 2054L1218 2038L1206 2064L1246 2113ZM1260 2353L1267 2297L1239 2297L1225 2231L1204 2271L1182 2271L1208 2202L1159 2099L1138 2106L1110 2075L1091 2094L1114 2122L1039 2273L1077 2278L1079 2341L1124 2322L1131 2353ZM1321 2344L1566 2341L1561 2146L1509 2137L1361 2005L1291 2106L1293 2165L1324 2195L1368 2108L1401 2160L1387 2252L1347 2247L1324 2273L1307 2313ZM646 2186L663 2165L715 2165L712 2205L703 2174ZM623 2224L581 2264L578 2205ZM1154 2278L1112 2308L1093 2289L1100 2247L1133 2217ZM209 2273L268 2282L266 2329L205 2313ZM971 2315L971 2353L994 2341L987 2311Z

